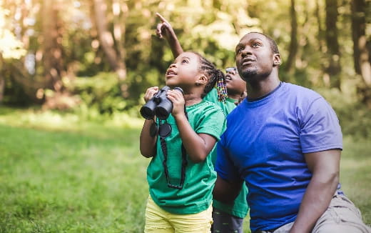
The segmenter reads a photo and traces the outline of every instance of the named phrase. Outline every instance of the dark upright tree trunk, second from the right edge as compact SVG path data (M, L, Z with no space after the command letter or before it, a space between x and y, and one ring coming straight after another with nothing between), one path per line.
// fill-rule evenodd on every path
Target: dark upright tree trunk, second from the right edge
M326 0L326 44L329 65L326 72L330 76L332 87L340 89L340 49L337 41L337 0Z

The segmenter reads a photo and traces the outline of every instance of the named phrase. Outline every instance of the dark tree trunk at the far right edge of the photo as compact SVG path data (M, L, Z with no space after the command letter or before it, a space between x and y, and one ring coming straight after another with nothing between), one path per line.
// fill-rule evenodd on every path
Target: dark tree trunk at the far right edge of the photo
M371 86L370 53L367 49L366 1L352 1L352 39L355 71L362 76L367 86Z

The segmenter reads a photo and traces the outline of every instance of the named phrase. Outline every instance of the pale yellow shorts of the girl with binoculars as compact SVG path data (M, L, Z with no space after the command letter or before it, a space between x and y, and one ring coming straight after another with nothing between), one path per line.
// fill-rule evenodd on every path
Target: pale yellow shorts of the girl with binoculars
M210 233L213 207L197 214L171 214L148 197L145 233Z

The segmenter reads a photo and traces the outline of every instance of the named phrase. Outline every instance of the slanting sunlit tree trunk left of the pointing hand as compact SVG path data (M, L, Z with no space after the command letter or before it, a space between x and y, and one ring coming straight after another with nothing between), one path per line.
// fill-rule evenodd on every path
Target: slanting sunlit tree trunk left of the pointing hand
M118 54L114 47L113 36L108 31L106 11L107 5L103 0L94 0L94 18L96 28L98 30L98 38L103 48L104 54L108 59L108 63L113 71L116 71L118 77L123 80L126 78L126 66L122 61L120 54Z

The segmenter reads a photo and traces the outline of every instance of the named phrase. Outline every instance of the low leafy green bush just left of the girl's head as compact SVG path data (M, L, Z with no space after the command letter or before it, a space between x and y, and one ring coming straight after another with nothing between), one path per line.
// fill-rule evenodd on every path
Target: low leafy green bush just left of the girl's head
M81 117L99 119L98 115L112 115L126 111L139 116L139 106L144 104L143 95L149 86L164 85L164 79L157 69L143 73L128 72L125 81L119 81L116 74L99 73L92 77L77 77L72 81L64 79L64 86L81 100L73 109Z

